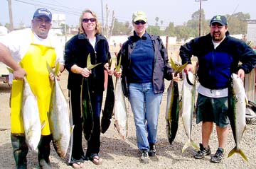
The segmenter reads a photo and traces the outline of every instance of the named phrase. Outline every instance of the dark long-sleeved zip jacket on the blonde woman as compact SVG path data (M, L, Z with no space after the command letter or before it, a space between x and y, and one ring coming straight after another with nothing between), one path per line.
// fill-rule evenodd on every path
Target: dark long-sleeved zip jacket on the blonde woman
M69 71L68 89L80 88L82 75L74 74L70 69L74 64L85 68L88 54L90 54L92 64L101 63L92 69L92 74L88 78L90 90L104 91L104 64L110 59L110 52L107 39L100 34L96 35L95 49L86 35L80 33L65 44L64 61L65 67Z

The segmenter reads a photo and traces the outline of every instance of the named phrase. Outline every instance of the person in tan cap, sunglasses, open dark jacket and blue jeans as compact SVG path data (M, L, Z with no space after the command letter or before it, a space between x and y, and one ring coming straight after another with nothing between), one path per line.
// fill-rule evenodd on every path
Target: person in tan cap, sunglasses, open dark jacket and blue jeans
M121 59L124 95L134 114L137 146L142 153L141 163L156 156L159 107L164 92L164 78L178 81L168 64L167 52L159 36L146 32L147 18L143 11L132 15L134 35L124 42L117 60ZM114 72L121 76L121 72Z

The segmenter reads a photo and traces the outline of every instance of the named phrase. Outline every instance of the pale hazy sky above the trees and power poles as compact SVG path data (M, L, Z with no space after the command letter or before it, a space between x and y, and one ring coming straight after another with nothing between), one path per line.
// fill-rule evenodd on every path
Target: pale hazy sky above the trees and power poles
M109 8L110 16L114 11L114 16L118 21L132 21L134 11L144 11L148 16L150 25L154 25L155 18L164 21L166 26L170 22L175 25L191 19L191 15L199 10L200 0L11 0L14 27L19 23L31 25L31 18L36 8L45 7L52 13L61 13L66 16L68 25L78 25L80 13L85 8L90 8L97 13L102 22L106 18L106 5ZM225 15L233 13L250 13L251 19L256 19L255 0L202 0L201 8L205 11L206 19L215 15ZM110 17L111 18L111 17ZM106 21L104 21L106 23ZM8 1L0 0L0 23L9 23Z

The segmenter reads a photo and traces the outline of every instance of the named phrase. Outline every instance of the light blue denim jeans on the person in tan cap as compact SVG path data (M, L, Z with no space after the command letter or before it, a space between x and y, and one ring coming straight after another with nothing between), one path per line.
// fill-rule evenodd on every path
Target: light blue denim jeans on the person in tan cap
M134 114L137 146L140 150L149 151L149 144L154 144L157 141L157 124L162 94L154 93L152 83L129 83L129 102Z

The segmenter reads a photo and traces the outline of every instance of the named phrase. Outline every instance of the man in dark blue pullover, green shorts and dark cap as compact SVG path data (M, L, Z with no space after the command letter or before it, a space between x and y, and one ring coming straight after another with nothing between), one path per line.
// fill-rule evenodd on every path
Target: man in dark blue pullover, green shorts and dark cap
M209 139L215 123L218 149L210 162L219 163L228 137L228 86L231 74L245 78L245 74L250 73L256 64L256 54L245 42L229 36L227 18L218 15L210 20L208 35L196 37L181 46L182 64L188 62L184 69L186 74L193 71L192 55L198 58L196 122L202 122L202 143L193 157L201 159L210 155ZM238 62L242 64L238 65Z

